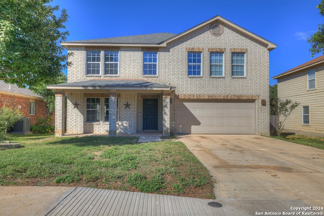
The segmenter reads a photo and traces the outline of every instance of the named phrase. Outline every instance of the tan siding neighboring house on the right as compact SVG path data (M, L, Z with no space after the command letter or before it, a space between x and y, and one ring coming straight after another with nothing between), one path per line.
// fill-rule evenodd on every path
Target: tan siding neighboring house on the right
M281 73L278 98L291 99L300 105L285 121L285 132L324 135L324 56Z

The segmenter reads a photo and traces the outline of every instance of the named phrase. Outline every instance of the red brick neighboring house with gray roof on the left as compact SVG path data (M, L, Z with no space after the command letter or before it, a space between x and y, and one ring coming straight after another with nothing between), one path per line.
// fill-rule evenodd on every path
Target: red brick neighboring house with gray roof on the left
M8 84L0 80L0 108L19 109L24 117L30 118L30 124L35 124L37 117L46 118L48 108L43 98L32 93L29 89L18 88L16 84ZM54 122L54 116L53 116Z

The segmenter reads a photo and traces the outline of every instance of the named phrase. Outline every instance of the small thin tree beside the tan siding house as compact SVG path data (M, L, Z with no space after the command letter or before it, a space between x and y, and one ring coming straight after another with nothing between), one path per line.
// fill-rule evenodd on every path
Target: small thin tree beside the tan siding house
M277 99L277 107L275 107L274 112L278 116L278 131L277 135L280 137L281 132L284 129L284 122L288 118L288 116L292 113L292 111L298 107L299 102L293 102L290 99ZM280 118L281 117L281 118Z

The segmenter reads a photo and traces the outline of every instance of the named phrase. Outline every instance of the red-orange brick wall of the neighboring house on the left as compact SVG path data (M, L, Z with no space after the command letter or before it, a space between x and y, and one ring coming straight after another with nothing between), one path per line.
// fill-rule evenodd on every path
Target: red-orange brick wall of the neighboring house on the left
M29 102L35 102L35 115L29 115ZM47 118L46 103L43 100L35 100L30 98L18 97L13 95L0 94L0 108L6 104L7 107L18 108L24 117L30 118L30 124L36 123L37 118ZM20 108L19 108L20 107ZM51 115L52 123L55 122L54 114Z

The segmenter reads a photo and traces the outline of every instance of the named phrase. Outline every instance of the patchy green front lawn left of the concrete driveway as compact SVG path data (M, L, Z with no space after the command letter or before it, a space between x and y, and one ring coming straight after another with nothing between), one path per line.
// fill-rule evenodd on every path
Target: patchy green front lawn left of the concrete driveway
M15 135L0 151L0 185L72 186L215 198L213 181L181 142L138 137Z

